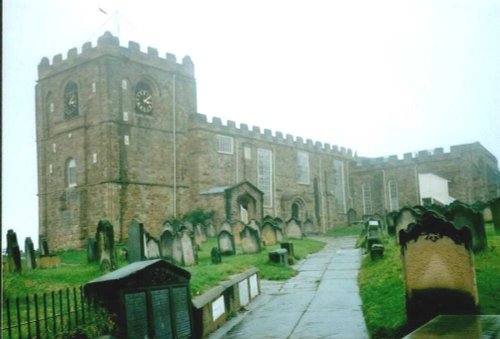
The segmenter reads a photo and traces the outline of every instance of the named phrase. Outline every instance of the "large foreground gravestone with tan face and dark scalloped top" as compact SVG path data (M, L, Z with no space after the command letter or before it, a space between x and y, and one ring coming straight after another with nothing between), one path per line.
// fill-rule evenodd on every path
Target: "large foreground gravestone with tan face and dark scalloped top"
M435 212L426 212L398 236L411 327L438 314L477 313L478 292L468 228L457 229Z

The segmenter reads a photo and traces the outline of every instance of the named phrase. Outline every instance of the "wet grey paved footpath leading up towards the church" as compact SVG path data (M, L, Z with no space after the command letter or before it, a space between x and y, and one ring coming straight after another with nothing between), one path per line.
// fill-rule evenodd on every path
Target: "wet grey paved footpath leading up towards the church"
M321 238L325 248L301 260L286 282L261 281L248 311L209 338L369 338L357 284L355 237Z

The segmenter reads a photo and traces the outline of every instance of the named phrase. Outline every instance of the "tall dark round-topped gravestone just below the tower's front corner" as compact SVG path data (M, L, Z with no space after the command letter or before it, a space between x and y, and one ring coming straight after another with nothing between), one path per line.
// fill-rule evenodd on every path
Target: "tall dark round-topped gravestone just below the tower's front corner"
M100 220L96 231L96 253L101 271L114 270L118 267L115 253L113 225L108 220Z

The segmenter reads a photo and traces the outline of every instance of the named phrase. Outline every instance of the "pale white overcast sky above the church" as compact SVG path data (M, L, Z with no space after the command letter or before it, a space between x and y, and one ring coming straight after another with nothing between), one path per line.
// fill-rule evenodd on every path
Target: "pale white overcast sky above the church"
M500 1L4 0L3 16L2 239L22 248L38 244L37 65L106 30L190 55L209 117L360 156L479 141L500 158Z

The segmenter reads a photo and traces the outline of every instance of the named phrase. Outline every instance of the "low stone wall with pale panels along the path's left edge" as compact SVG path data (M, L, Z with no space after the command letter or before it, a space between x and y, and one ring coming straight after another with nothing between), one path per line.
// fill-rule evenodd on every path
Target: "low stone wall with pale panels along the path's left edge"
M260 294L259 270L235 274L192 299L195 337L203 338L230 319Z

